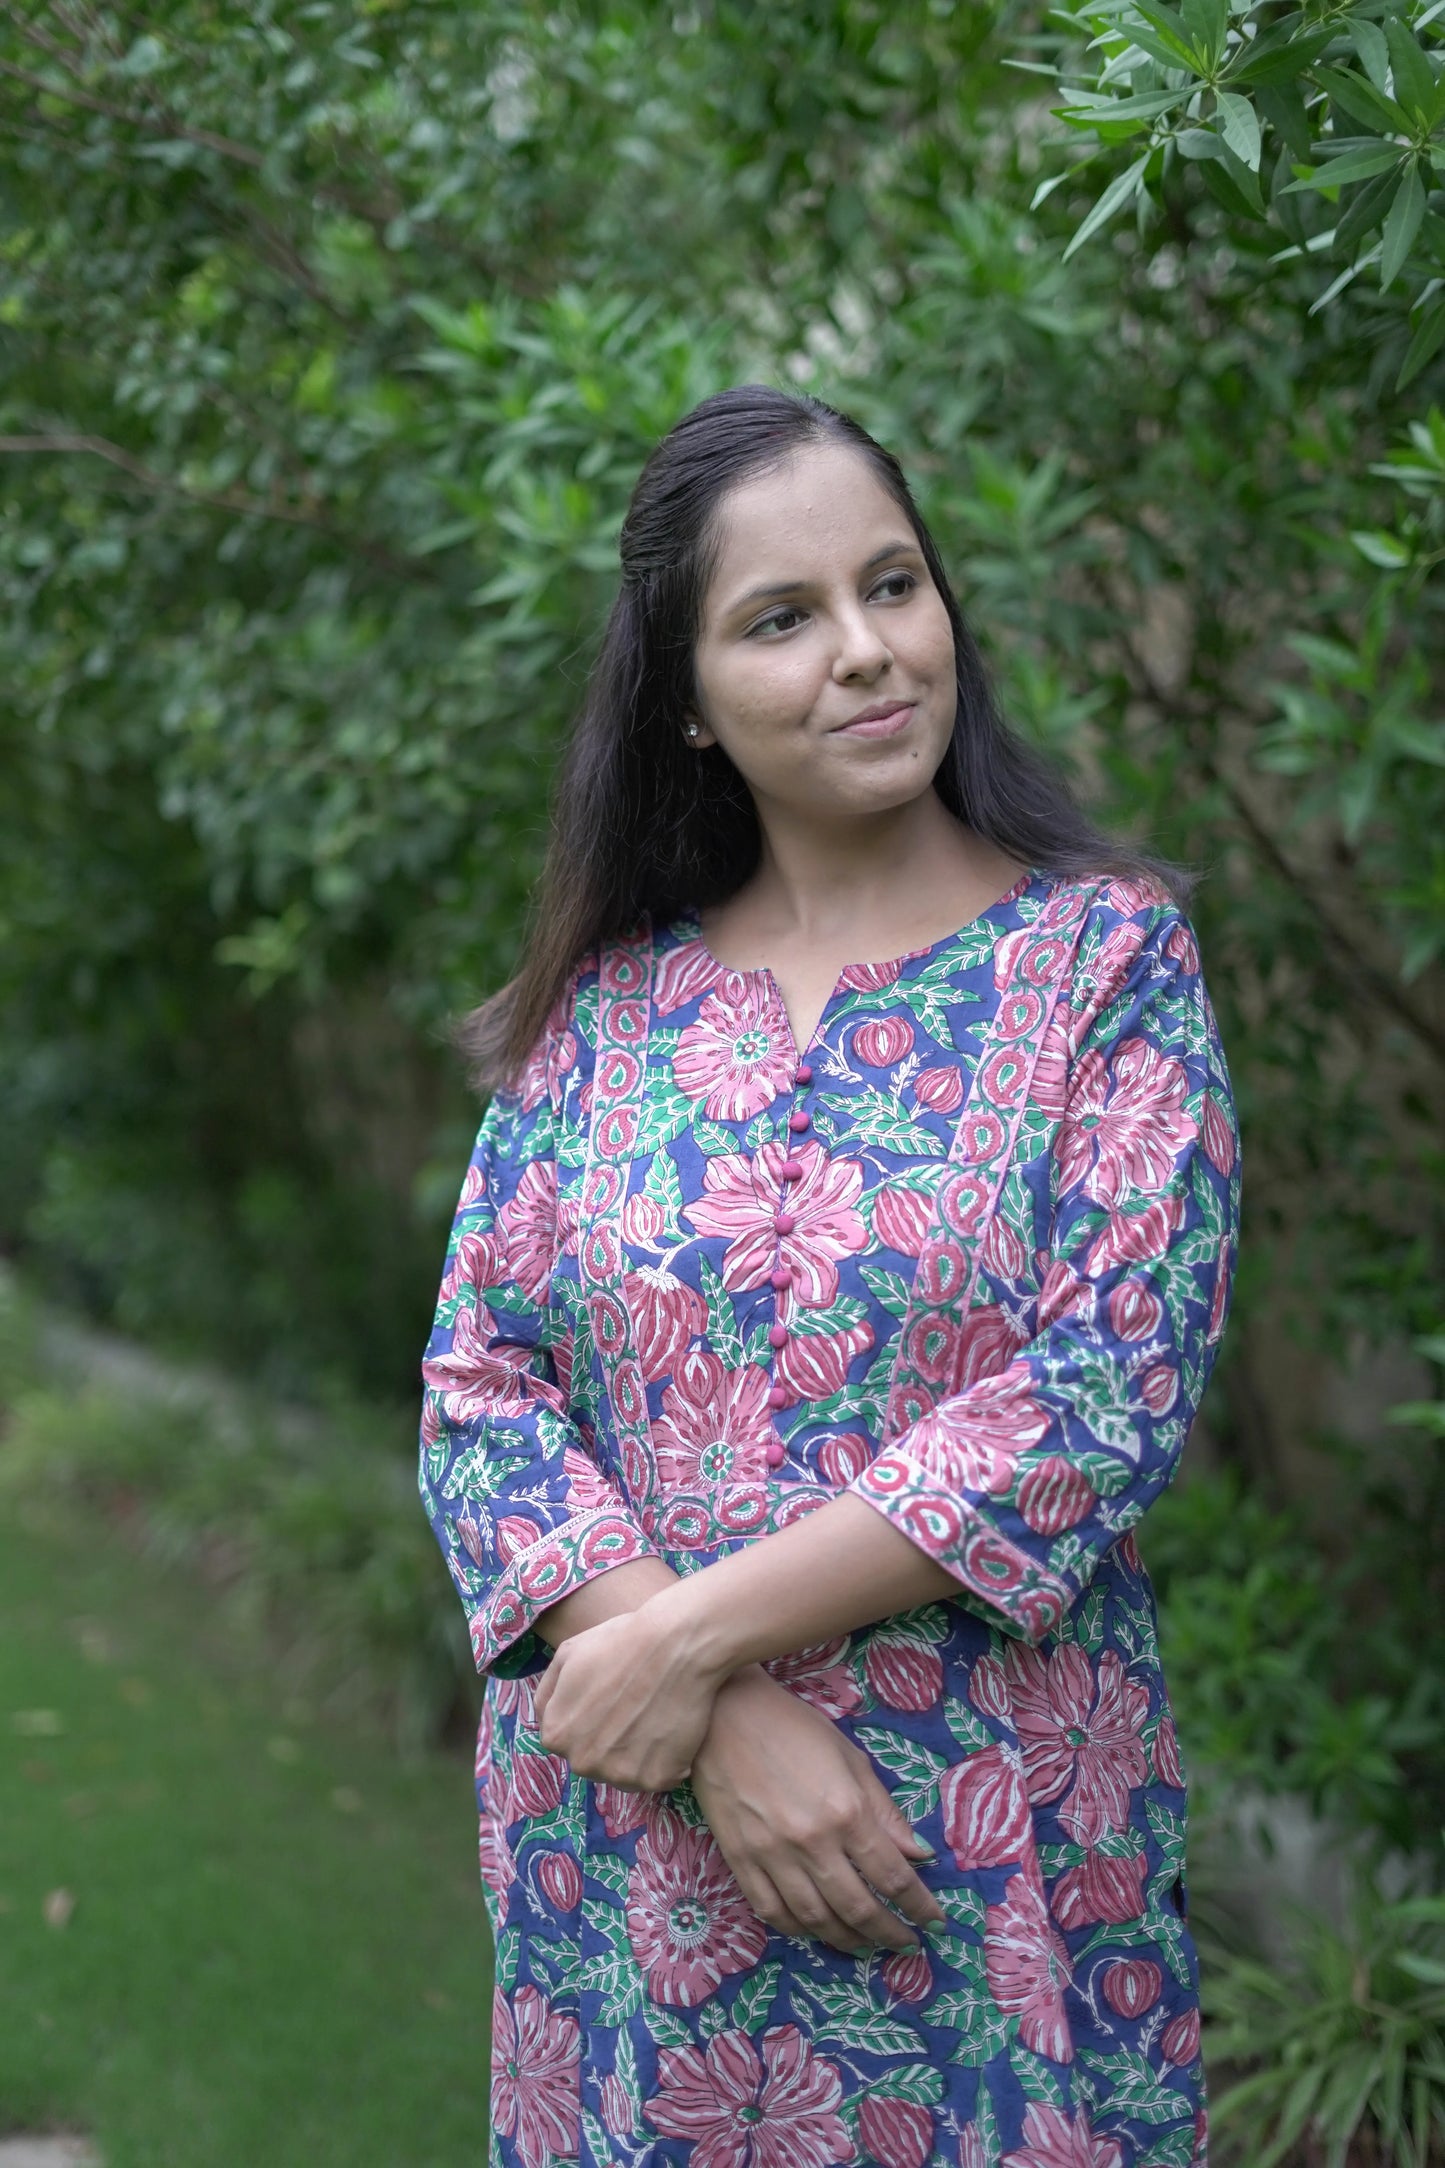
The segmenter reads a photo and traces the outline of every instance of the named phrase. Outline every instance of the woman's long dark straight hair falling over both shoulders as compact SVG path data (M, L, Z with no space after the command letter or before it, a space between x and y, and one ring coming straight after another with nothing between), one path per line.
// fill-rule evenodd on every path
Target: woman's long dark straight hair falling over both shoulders
M552 846L522 969L461 1025L481 1084L516 1080L583 956L643 915L667 924L732 895L760 852L758 815L721 750L693 752L693 648L717 509L741 481L806 444L847 444L906 516L945 601L958 720L934 789L975 835L1040 872L1144 874L1181 902L1187 876L1109 841L1062 776L1003 722L973 633L903 468L860 423L767 384L704 399L650 455L622 522L622 588L557 783Z

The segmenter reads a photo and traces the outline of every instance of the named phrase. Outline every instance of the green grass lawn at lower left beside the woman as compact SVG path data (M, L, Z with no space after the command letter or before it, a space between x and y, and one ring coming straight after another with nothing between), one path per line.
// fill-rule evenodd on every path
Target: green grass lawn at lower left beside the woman
M84 2129L104 2168L481 2168L466 1763L310 1721L210 1591L76 1509L6 1515L0 2133Z

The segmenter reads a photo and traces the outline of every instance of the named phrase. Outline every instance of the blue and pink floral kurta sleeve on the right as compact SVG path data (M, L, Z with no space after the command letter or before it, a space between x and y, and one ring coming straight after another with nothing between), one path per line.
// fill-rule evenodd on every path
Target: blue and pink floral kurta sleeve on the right
M1062 1010L1036 1077L1057 1114L1042 1286L1023 1301L997 1277L1020 1249L1014 1216L984 1244L994 1270L962 1325L962 1377L988 1375L851 1483L964 1602L1031 1641L1174 1474L1237 1251L1239 1138L1194 934L1170 906L1116 943L1124 967L1103 999Z

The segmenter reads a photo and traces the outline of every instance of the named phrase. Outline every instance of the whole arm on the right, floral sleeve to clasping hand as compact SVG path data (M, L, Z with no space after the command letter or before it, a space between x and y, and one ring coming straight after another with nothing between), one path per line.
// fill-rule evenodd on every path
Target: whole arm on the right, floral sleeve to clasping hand
M633 1719L650 1754L667 1726L691 1754L732 1667L945 1593L1042 1639L1172 1476L1228 1305L1237 1140L1192 934L1172 911L1144 919L1070 1069L1033 1338L851 1494L661 1591L626 1648L611 1630L609 1663L650 1680ZM552 1737L617 1752L622 1706L604 1747L576 1691L589 1650L568 1654L542 1689L574 1689Z

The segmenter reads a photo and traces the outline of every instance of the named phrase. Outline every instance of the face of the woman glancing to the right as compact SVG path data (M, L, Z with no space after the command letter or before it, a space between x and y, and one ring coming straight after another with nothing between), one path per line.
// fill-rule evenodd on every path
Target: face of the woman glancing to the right
M758 809L858 817L929 789L958 707L953 627L869 462L810 444L721 503L693 746Z

